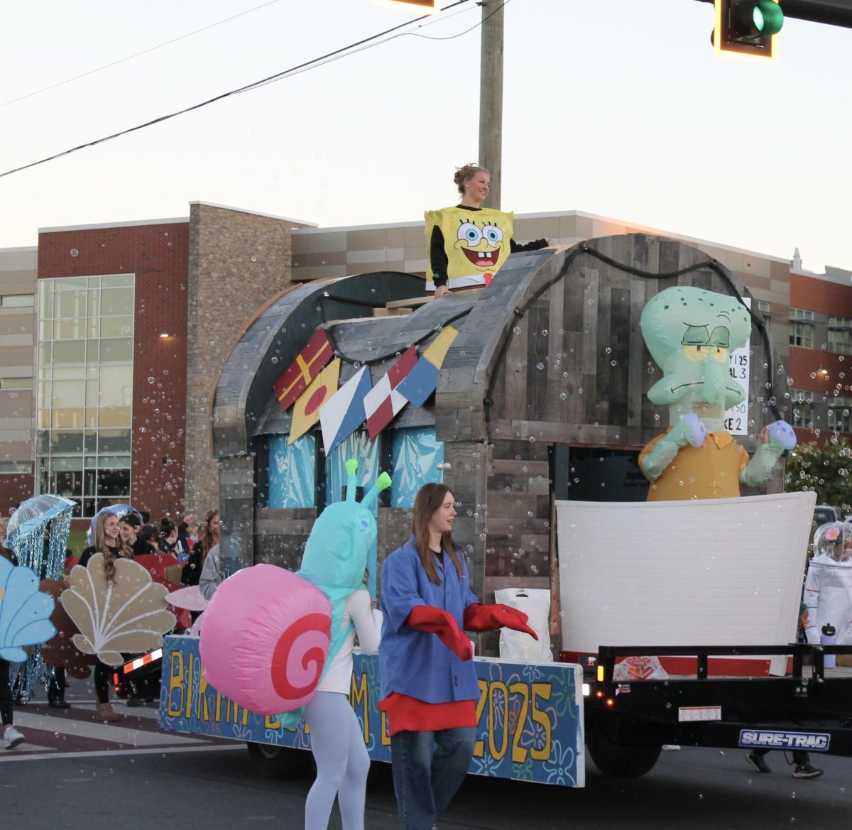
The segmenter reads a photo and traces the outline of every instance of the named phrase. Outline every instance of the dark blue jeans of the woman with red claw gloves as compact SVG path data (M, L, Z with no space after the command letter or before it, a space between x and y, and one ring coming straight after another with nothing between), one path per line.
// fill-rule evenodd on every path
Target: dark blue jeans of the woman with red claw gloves
M398 732L390 739L394 791L402 830L432 830L462 786L474 754L476 729Z

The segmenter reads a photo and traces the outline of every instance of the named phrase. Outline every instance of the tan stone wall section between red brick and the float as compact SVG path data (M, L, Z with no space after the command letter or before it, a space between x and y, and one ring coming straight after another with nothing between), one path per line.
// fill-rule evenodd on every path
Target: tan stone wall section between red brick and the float
M291 233L281 216L190 204L187 326L187 512L218 507L211 407L225 361L258 308L291 285Z

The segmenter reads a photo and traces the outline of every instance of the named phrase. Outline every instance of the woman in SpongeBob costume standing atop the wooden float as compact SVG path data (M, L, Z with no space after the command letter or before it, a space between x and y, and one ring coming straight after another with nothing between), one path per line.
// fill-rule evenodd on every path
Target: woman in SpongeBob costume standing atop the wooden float
M477 164L456 170L453 181L462 200L455 207L427 210L429 270L426 291L441 297L457 288L488 285L510 253L538 251L552 245L536 239L518 245L512 239L514 214L484 208L491 177Z

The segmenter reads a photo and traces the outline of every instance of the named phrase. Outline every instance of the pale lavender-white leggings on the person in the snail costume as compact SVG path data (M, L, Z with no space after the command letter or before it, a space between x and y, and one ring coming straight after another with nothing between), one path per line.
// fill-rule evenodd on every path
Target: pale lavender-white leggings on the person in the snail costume
M305 707L317 778L305 802L305 830L327 830L337 796L343 830L364 830L370 756L346 695L317 692Z

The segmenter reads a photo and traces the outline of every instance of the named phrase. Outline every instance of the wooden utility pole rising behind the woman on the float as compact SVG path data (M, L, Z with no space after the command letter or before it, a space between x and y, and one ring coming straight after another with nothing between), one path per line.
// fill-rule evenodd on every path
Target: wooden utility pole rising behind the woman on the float
M505 0L481 0L479 164L491 174L488 207L500 207L503 175L503 8Z

